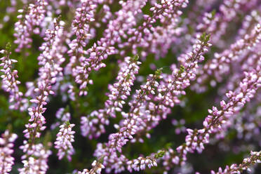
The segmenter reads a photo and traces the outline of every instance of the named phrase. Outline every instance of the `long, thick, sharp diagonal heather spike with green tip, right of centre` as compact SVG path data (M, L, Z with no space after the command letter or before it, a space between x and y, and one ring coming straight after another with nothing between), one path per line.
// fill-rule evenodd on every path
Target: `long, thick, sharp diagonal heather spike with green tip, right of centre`
M180 65L180 69L173 67L173 73L168 76L168 79L164 79L166 81L150 85L155 86L155 91L147 88L151 95L144 95L145 92L142 91L142 96L139 93L137 94L140 98L133 100L133 103L129 103L131 110L129 113L123 113L126 119L119 128L119 135L110 135L112 140L117 139L118 136L121 137L119 138L119 144L113 142L116 149L119 150L119 147L126 144L127 140L123 141L123 137L133 139L133 135L136 133L147 132L154 128L160 119L166 119L166 115L170 113L169 107L173 107L180 102L178 97L185 95L184 89L189 86L189 81L194 79L196 67L198 67L197 63L203 61L203 53L210 46L208 41L209 36L202 34L201 38L193 46L194 51L182 56L184 63ZM146 86L149 86L149 84L146 84ZM140 104L136 105L135 103L139 100L141 101ZM155 102L158 104L155 105Z

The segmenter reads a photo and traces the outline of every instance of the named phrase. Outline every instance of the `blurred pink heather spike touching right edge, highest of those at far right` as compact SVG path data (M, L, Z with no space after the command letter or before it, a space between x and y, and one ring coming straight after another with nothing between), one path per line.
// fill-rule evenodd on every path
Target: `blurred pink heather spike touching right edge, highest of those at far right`
M236 41L229 49L218 54L215 53L215 58L208 60L199 72L197 79L192 87L198 92L206 91L206 82L213 81L211 84L215 86L216 82L222 81L222 77L229 72L229 66L232 62L239 61L239 56L245 52L254 49L261 39L261 25L255 25L255 28L250 34L246 34L243 39Z

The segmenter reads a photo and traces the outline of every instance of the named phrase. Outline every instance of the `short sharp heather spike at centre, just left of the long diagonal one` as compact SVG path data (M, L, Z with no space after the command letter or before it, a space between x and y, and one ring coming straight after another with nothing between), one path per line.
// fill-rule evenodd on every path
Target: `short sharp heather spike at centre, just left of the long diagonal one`
M98 138L101 133L105 133L104 125L109 124L109 117L115 118L116 112L121 112L125 100L131 95L131 86L135 81L135 74L138 74L138 57L126 57L119 67L119 74L116 82L109 85L109 99L105 102L105 108L91 112L88 116L81 117L81 134L88 138Z

